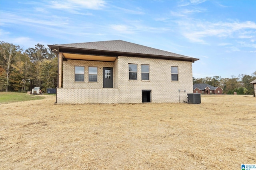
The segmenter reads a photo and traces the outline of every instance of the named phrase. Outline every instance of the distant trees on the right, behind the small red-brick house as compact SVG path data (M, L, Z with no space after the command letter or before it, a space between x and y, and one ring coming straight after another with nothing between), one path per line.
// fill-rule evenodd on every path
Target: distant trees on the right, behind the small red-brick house
M238 77L231 76L231 78L221 78L220 76L206 77L206 78L194 78L193 84L206 83L214 87L220 87L223 89L224 94L253 94L253 84L249 84L256 79L256 71L252 75L239 74Z

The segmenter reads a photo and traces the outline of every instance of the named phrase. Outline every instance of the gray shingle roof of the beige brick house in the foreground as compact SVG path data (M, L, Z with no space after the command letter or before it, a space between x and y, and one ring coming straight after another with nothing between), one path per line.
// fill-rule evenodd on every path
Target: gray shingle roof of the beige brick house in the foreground
M171 53L168 51L154 49L151 47L146 47L144 45L129 43L127 41L122 41L122 40L61 44L61 45L49 45L49 46L68 47L68 48L75 48L75 49L91 49L91 50L99 50L99 51L114 51L114 52L122 52L122 53L147 54L147 55L166 56L166 57L181 57L181 58L192 59L193 61L199 60L193 57L188 57L185 55L180 55L180 54Z

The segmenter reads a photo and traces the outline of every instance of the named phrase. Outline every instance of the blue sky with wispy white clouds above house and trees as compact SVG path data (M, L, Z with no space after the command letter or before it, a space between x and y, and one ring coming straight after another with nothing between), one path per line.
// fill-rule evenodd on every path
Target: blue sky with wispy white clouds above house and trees
M199 58L193 76L256 71L256 0L1 0L0 41L23 49L124 40Z

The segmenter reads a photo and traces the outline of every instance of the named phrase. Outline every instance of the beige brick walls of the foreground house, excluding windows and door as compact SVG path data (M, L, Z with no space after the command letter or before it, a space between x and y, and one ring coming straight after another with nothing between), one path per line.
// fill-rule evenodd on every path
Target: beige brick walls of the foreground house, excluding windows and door
M129 63L138 64L138 80L129 80ZM141 64L150 65L148 81L141 80ZM84 82L74 82L74 66L85 66ZM88 66L98 67L98 82L88 82ZM171 66L178 66L178 81L171 80ZM113 67L114 88L103 88L103 67ZM114 63L64 61L63 70L63 88L57 89L58 104L141 103L142 90L151 90L151 102L183 102L187 93L193 93L192 63L186 61L118 56Z

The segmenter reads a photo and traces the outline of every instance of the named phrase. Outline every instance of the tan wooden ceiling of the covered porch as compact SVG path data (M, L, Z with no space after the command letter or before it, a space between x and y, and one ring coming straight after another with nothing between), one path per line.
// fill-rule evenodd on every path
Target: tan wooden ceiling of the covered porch
M109 61L114 62L116 57L107 57L100 55L82 55L82 54L71 54L71 53L62 53L65 59L75 59L75 60L92 60L92 61Z

